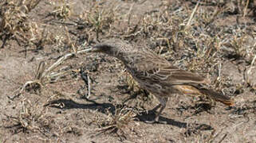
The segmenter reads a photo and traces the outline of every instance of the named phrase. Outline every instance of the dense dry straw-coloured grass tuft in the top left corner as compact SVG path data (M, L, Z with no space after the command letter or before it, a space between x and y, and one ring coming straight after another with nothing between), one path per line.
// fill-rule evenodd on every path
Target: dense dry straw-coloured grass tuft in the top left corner
M8 1L1 2L0 16L0 34L3 41L1 48L6 41L14 38L18 44L30 43L37 33L37 24L30 22L28 14L33 10L41 0L30 1Z

